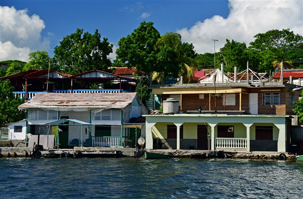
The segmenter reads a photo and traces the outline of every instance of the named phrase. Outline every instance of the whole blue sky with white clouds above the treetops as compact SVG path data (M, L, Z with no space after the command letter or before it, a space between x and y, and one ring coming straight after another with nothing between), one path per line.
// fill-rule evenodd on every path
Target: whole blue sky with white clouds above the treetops
M303 35L303 1L1 0L0 61L28 62L35 51L53 57L55 46L77 28L91 34L97 29L108 38L114 60L118 41L143 21L153 22L161 35L180 33L196 53L214 53L226 39L248 46L256 34L272 29Z

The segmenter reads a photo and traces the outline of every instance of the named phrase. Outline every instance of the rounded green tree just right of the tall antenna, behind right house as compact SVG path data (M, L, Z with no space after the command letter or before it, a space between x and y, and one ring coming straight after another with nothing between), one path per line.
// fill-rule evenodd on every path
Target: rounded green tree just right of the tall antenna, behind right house
M226 72L234 71L234 67L240 71L245 70L248 60L246 44L226 39L225 45L220 49L219 60L225 63Z

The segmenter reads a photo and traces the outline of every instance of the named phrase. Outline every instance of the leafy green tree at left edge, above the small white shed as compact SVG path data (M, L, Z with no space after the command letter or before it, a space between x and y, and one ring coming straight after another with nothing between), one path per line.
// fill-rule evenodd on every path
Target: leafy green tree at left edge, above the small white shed
M24 103L24 100L15 96L14 87L9 80L0 79L0 126L4 124L22 120L24 113L18 110L18 106Z

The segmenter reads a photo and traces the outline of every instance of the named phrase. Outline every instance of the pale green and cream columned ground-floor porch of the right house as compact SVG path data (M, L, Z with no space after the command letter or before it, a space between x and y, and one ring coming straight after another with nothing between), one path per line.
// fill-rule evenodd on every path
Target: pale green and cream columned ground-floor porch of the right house
M174 114L146 117L146 148L286 151L289 116ZM175 137L174 137L175 136Z

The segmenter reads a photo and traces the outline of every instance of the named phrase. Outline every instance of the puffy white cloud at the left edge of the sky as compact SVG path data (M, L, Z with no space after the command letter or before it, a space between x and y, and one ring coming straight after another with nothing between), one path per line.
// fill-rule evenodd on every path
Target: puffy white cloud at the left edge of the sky
M28 61L30 52L49 49L49 40L41 39L45 25L39 16L29 16L27 10L0 7L0 22L0 61Z

